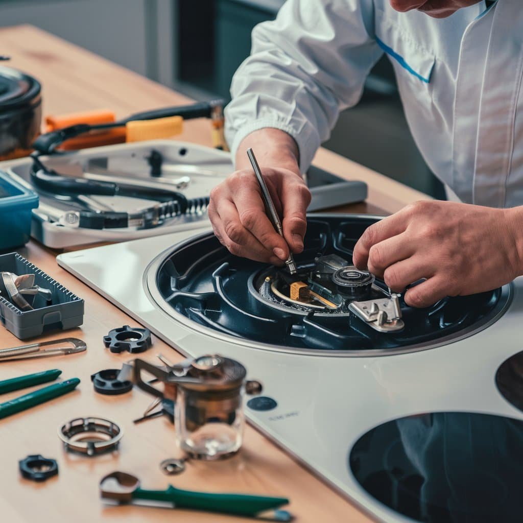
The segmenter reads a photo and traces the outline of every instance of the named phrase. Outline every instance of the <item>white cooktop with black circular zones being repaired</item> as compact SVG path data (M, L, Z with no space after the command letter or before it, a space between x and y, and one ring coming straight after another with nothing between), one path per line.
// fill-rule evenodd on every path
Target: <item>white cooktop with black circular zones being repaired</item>
M521 462L523 412L496 373L522 348L523 280L412 309L350 265L377 219L311 215L295 277L231 256L210 231L58 262L180 353L242 362L264 385L249 421L375 518L438 523L458 507L470 518L448 521L502 521L495 495L519 515L509 457ZM516 394L520 381L504 384ZM477 507L492 510L475 519L470 500L488 488Z

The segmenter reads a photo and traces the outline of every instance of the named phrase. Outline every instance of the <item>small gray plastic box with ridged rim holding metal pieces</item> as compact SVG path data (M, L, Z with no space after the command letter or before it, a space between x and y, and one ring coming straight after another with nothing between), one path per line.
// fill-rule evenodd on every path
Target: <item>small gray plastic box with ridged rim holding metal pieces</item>
M51 305L37 295L33 311L20 311L16 305L0 295L0 320L5 328L18 339L40 336L54 329L69 329L82 325L84 321L84 300L53 280L45 272L17 253L0 255L0 271L34 274L35 283L52 292Z

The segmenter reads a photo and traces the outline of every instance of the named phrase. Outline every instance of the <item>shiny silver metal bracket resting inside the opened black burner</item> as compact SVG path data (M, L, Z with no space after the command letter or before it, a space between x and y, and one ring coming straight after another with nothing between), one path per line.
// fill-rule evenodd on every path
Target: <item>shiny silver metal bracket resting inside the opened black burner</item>
M392 293L390 298L353 301L349 310L379 332L401 331L405 326L401 319L400 295Z

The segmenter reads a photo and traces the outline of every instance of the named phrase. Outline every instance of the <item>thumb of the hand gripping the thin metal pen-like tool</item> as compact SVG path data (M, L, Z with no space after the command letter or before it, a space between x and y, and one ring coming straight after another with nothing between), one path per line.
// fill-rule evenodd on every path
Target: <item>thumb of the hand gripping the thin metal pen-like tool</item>
M283 236L293 253L303 251L303 237L307 229L306 211L310 202L311 192L304 181L293 179L283 184L281 191Z

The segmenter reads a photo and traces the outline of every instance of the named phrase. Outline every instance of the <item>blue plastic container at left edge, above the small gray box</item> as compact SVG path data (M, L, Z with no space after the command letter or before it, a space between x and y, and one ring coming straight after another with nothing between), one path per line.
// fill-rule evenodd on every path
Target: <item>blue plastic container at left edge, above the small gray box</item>
M38 195L0 170L0 250L20 247L29 241L31 209Z

